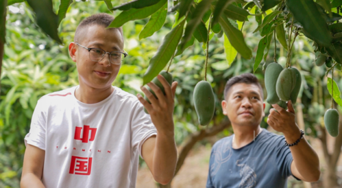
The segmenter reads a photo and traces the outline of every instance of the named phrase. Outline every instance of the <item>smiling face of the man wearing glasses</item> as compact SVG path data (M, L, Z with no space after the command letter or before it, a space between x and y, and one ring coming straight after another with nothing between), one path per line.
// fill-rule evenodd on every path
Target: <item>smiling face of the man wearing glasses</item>
M109 29L102 25L90 25L80 32L80 41L75 41L88 48L99 48L104 51L123 51L123 39L119 30ZM106 89L112 86L117 78L121 64L112 64L109 55L94 62L89 58L87 49L71 43L69 53L76 62L80 85L93 89Z

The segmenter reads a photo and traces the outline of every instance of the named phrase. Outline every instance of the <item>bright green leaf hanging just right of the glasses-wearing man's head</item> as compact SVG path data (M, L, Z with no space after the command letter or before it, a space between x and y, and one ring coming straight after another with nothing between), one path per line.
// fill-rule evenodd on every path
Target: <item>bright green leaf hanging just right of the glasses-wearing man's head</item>
M162 25L164 25L165 20L167 19L167 3L164 4L160 10L154 12L149 19L149 23L147 23L144 29L139 34L139 39L147 38L152 36L154 32L160 30Z

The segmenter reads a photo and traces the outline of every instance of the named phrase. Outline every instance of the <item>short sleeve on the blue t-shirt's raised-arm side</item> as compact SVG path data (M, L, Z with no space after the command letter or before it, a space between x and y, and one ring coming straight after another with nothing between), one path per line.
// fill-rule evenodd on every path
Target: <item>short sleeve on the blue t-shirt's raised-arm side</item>
M293 161L291 150L289 146L284 144L285 143L284 137L278 137L277 142L278 142L278 148L277 148L277 154L276 154L276 161L279 161L278 170L282 174L283 178L287 178L288 176L293 176L291 172L291 163ZM296 179L300 180L298 178Z

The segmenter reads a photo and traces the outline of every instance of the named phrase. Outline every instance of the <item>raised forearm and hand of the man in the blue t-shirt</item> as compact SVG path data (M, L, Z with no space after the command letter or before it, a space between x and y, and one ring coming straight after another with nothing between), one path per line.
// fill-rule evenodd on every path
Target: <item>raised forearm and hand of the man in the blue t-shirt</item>
M291 101L287 103L288 111L278 106L272 105L277 111L271 109L267 123L276 131L284 133L287 143L295 143L300 139L301 132L295 123L295 110ZM317 153L308 144L303 137L297 145L290 147L293 156L291 163L291 172L293 176L300 178L306 182L315 182L319 180L321 174L319 170L319 158Z

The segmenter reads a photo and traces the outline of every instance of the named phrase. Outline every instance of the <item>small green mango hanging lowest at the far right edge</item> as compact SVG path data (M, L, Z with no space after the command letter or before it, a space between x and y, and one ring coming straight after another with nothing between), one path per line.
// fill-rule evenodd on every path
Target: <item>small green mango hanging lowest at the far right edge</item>
M324 115L324 124L326 125L328 133L332 137L337 137L339 135L339 112L333 108L326 110L326 114Z

